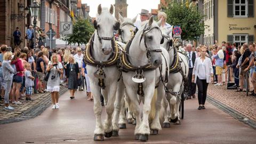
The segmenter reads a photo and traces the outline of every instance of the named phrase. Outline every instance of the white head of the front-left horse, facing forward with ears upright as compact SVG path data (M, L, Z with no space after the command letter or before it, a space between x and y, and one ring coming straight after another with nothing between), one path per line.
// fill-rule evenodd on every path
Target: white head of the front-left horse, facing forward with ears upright
M101 51L108 55L112 52L112 41L114 37L114 30L118 30L120 23L113 17L114 7L111 5L110 10L98 6L98 14L93 22L93 26L97 29L99 42L102 44Z

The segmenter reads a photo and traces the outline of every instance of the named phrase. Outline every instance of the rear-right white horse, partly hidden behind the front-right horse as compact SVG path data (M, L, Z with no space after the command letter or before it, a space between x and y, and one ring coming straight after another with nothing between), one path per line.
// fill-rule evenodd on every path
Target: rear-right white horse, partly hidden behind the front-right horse
M181 102L181 94L184 91L184 83L188 77L188 58L187 55L179 52L172 39L172 28L164 35L165 41L163 47L168 51L170 57L170 74L166 92L163 100L164 107L164 124L163 127L170 127L169 114L167 113L168 104L170 106L170 119L175 124L180 124L179 107ZM177 57L175 56L177 55Z

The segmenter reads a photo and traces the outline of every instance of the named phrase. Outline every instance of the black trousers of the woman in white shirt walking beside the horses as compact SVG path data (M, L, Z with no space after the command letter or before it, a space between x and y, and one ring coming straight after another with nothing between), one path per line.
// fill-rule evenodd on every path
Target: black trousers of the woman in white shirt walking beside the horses
M198 103L199 105L204 105L207 94L208 83L206 79L196 79L197 89L198 89Z

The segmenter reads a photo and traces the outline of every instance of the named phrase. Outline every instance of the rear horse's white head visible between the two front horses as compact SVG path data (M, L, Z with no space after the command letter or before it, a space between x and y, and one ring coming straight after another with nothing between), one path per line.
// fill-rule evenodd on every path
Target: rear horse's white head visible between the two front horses
M122 15L119 14L119 21L121 22L121 26L118 30L118 34L119 34L119 37L121 38L122 43L127 43L132 33L135 34L138 31L138 28L133 25L136 19L137 19L137 15L133 19L129 19L129 18L123 18Z

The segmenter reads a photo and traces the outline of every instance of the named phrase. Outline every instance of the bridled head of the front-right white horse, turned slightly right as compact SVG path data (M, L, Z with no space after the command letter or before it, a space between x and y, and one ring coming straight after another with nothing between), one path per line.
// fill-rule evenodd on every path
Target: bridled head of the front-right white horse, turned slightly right
M140 32L142 31L140 47L142 51L147 51L147 58L150 60L151 65L154 67L159 67L162 63L162 50L160 46L164 41L161 29L159 28L159 25L154 21L153 16L150 17L146 24L142 24L141 28L143 29L140 29Z

